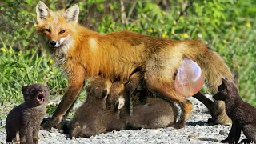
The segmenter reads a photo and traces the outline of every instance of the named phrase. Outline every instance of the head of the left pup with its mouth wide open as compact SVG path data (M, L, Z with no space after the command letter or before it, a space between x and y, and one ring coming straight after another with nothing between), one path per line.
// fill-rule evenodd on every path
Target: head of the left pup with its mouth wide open
M25 103L30 106L48 103L50 99L49 88L37 83L30 86L22 86L22 94Z

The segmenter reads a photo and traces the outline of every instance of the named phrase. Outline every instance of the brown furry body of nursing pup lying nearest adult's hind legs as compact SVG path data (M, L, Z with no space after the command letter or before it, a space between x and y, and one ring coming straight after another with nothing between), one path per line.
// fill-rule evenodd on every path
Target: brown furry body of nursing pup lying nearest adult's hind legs
M133 114L126 116L126 128L157 129L174 126L177 116L178 110L173 103L161 98L147 98L146 104L134 105Z

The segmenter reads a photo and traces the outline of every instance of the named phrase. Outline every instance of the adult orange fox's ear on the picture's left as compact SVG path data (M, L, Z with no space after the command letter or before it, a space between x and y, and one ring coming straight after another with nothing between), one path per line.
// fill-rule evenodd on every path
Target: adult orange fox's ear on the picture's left
M42 1L39 1L37 6L36 6L36 11L37 11L37 21L42 21L46 20L46 18L50 14L49 8L44 4Z

